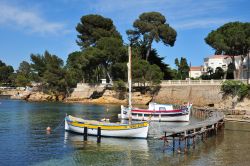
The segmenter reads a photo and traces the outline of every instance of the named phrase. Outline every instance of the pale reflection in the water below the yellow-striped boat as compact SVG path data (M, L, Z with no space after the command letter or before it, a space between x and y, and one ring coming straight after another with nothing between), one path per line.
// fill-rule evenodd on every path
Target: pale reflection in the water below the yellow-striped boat
M73 154L75 163L84 165L133 165L138 161L149 160L148 142L145 139L119 139L103 137L101 143L96 137L65 132L65 146L76 149Z

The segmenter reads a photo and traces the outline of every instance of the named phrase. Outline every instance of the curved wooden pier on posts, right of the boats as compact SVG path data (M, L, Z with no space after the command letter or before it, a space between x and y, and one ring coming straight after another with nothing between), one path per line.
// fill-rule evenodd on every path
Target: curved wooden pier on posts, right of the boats
M180 153L182 150L187 151L191 142L193 147L197 137L202 140L217 134L217 131L224 126L224 113L218 111L206 111L206 110L196 110L193 112L196 116L204 117L205 120L197 122L194 124L189 124L187 126L168 128L163 130L164 136L161 138L164 140L164 147L169 145L169 140L172 140L172 149ZM182 144L182 148L181 148Z

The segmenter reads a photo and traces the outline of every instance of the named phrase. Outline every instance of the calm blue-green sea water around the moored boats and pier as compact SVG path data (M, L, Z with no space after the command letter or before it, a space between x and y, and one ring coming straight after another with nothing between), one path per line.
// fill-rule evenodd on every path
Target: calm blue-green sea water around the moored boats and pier
M106 111L108 109L108 112ZM64 132L65 114L117 121L119 106L28 103L0 99L0 165L249 165L250 124L226 123L225 130L187 154L163 152L155 139L102 138ZM196 120L193 118L192 123ZM169 124L174 125L174 124ZM53 130L46 134L46 127Z

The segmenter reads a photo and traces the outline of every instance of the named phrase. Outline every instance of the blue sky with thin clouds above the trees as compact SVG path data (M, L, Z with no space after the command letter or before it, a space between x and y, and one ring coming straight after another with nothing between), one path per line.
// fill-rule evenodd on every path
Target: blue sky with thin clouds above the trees
M177 31L174 47L154 43L165 62L185 57L192 66L214 51L205 42L209 32L231 21L250 21L249 0L0 0L0 60L18 68L30 54L45 50L62 58L79 50L75 26L81 16L111 18L123 40L143 12L158 11Z

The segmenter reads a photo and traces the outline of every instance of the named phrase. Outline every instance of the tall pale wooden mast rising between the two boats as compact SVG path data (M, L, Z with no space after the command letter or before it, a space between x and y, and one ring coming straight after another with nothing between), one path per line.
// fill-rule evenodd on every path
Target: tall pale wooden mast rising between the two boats
M128 47L128 106L131 109L132 108L132 94L131 94L131 88L132 88L132 74L131 74L131 47Z

